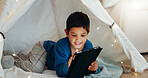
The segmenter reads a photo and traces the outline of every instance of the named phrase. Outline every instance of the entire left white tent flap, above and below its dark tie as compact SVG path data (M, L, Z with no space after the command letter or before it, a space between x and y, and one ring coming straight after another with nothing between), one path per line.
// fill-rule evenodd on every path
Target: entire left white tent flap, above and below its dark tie
M0 9L0 32L6 33L9 28L29 9L34 0L2 0ZM5 5L4 5L5 4ZM3 54L3 37L0 35L0 63ZM0 77L4 78L3 68L0 64Z

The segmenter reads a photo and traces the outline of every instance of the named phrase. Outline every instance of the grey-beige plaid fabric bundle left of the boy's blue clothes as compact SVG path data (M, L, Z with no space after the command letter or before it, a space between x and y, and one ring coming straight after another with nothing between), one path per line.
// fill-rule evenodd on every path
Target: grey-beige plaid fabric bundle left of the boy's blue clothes
M41 46L40 42L33 46L29 54L19 53L18 56L22 59L23 62L20 59L15 59L16 66L22 68L25 71L28 71L27 69L29 69L36 73L42 73L44 71L46 51L44 47Z

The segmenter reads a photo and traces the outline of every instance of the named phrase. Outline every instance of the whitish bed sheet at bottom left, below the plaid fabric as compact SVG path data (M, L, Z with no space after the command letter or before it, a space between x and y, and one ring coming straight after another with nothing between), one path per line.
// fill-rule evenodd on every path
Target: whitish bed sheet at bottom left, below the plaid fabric
M24 70L13 66L10 69L4 69L4 78L59 78L55 71L45 70L42 74L25 72Z

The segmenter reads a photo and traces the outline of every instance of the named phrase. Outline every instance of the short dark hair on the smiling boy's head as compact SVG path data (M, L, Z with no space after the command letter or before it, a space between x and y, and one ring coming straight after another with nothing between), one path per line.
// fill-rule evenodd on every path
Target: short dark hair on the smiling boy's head
M72 27L83 27L88 33L90 28L89 24L90 21L86 14L82 12L74 12L67 18L66 29L69 34L69 31Z

